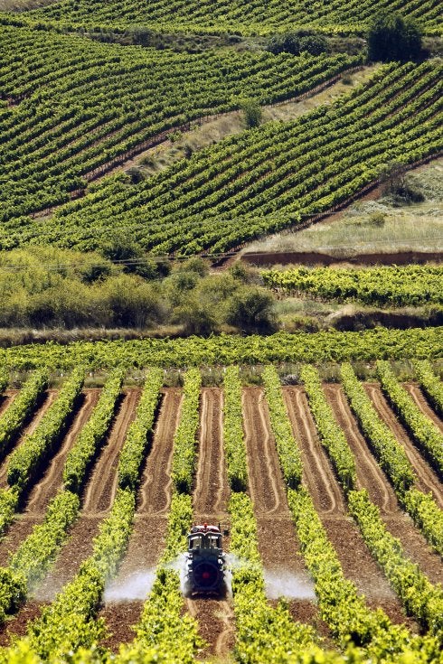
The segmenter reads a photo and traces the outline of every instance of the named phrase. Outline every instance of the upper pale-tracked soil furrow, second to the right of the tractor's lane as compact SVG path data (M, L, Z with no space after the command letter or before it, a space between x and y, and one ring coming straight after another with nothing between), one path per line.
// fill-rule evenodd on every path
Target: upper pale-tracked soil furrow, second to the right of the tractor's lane
M304 481L312 492L319 514L344 514L344 498L316 434L316 425L302 388L284 389L287 413L297 443L301 445Z

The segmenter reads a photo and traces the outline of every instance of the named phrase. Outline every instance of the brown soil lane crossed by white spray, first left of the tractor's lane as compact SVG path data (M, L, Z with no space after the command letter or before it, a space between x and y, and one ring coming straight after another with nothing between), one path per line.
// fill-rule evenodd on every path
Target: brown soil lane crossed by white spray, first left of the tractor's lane
M180 419L182 390L166 389L156 421L152 446L146 458L138 496L138 510L115 581L105 594L99 615L109 636L103 645L118 651L120 643L132 641L155 568L165 547L167 512L171 503L170 479L174 433ZM116 596L117 595L117 596Z

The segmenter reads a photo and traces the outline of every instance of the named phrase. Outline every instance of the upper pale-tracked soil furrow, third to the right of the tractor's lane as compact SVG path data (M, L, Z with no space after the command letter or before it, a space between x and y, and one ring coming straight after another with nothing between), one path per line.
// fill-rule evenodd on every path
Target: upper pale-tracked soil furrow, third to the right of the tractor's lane
M391 484L382 468L368 450L366 441L353 418L353 414L340 385L330 383L325 386L325 395L333 408L336 420L344 431L346 440L353 451L357 467L357 481L360 488L367 489L371 500L384 514L398 513L399 506Z

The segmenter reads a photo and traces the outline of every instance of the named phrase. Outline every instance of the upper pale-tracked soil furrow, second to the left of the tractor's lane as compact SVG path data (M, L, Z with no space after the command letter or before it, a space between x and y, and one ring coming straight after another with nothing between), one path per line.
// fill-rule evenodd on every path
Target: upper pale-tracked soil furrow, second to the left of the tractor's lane
M117 466L120 449L125 442L127 429L136 416L137 401L140 390L128 389L114 426L108 438L108 444L100 454L99 460L94 468L96 482L90 482L85 493L83 512L90 516L104 516L112 505L117 491ZM98 481L99 480L99 481Z

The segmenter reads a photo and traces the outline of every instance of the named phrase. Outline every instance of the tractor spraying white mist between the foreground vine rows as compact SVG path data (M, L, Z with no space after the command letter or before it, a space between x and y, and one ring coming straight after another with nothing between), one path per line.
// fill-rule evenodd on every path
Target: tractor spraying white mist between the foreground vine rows
M184 563L184 594L191 597L196 594L224 596L225 572L220 525L193 526L188 533Z

